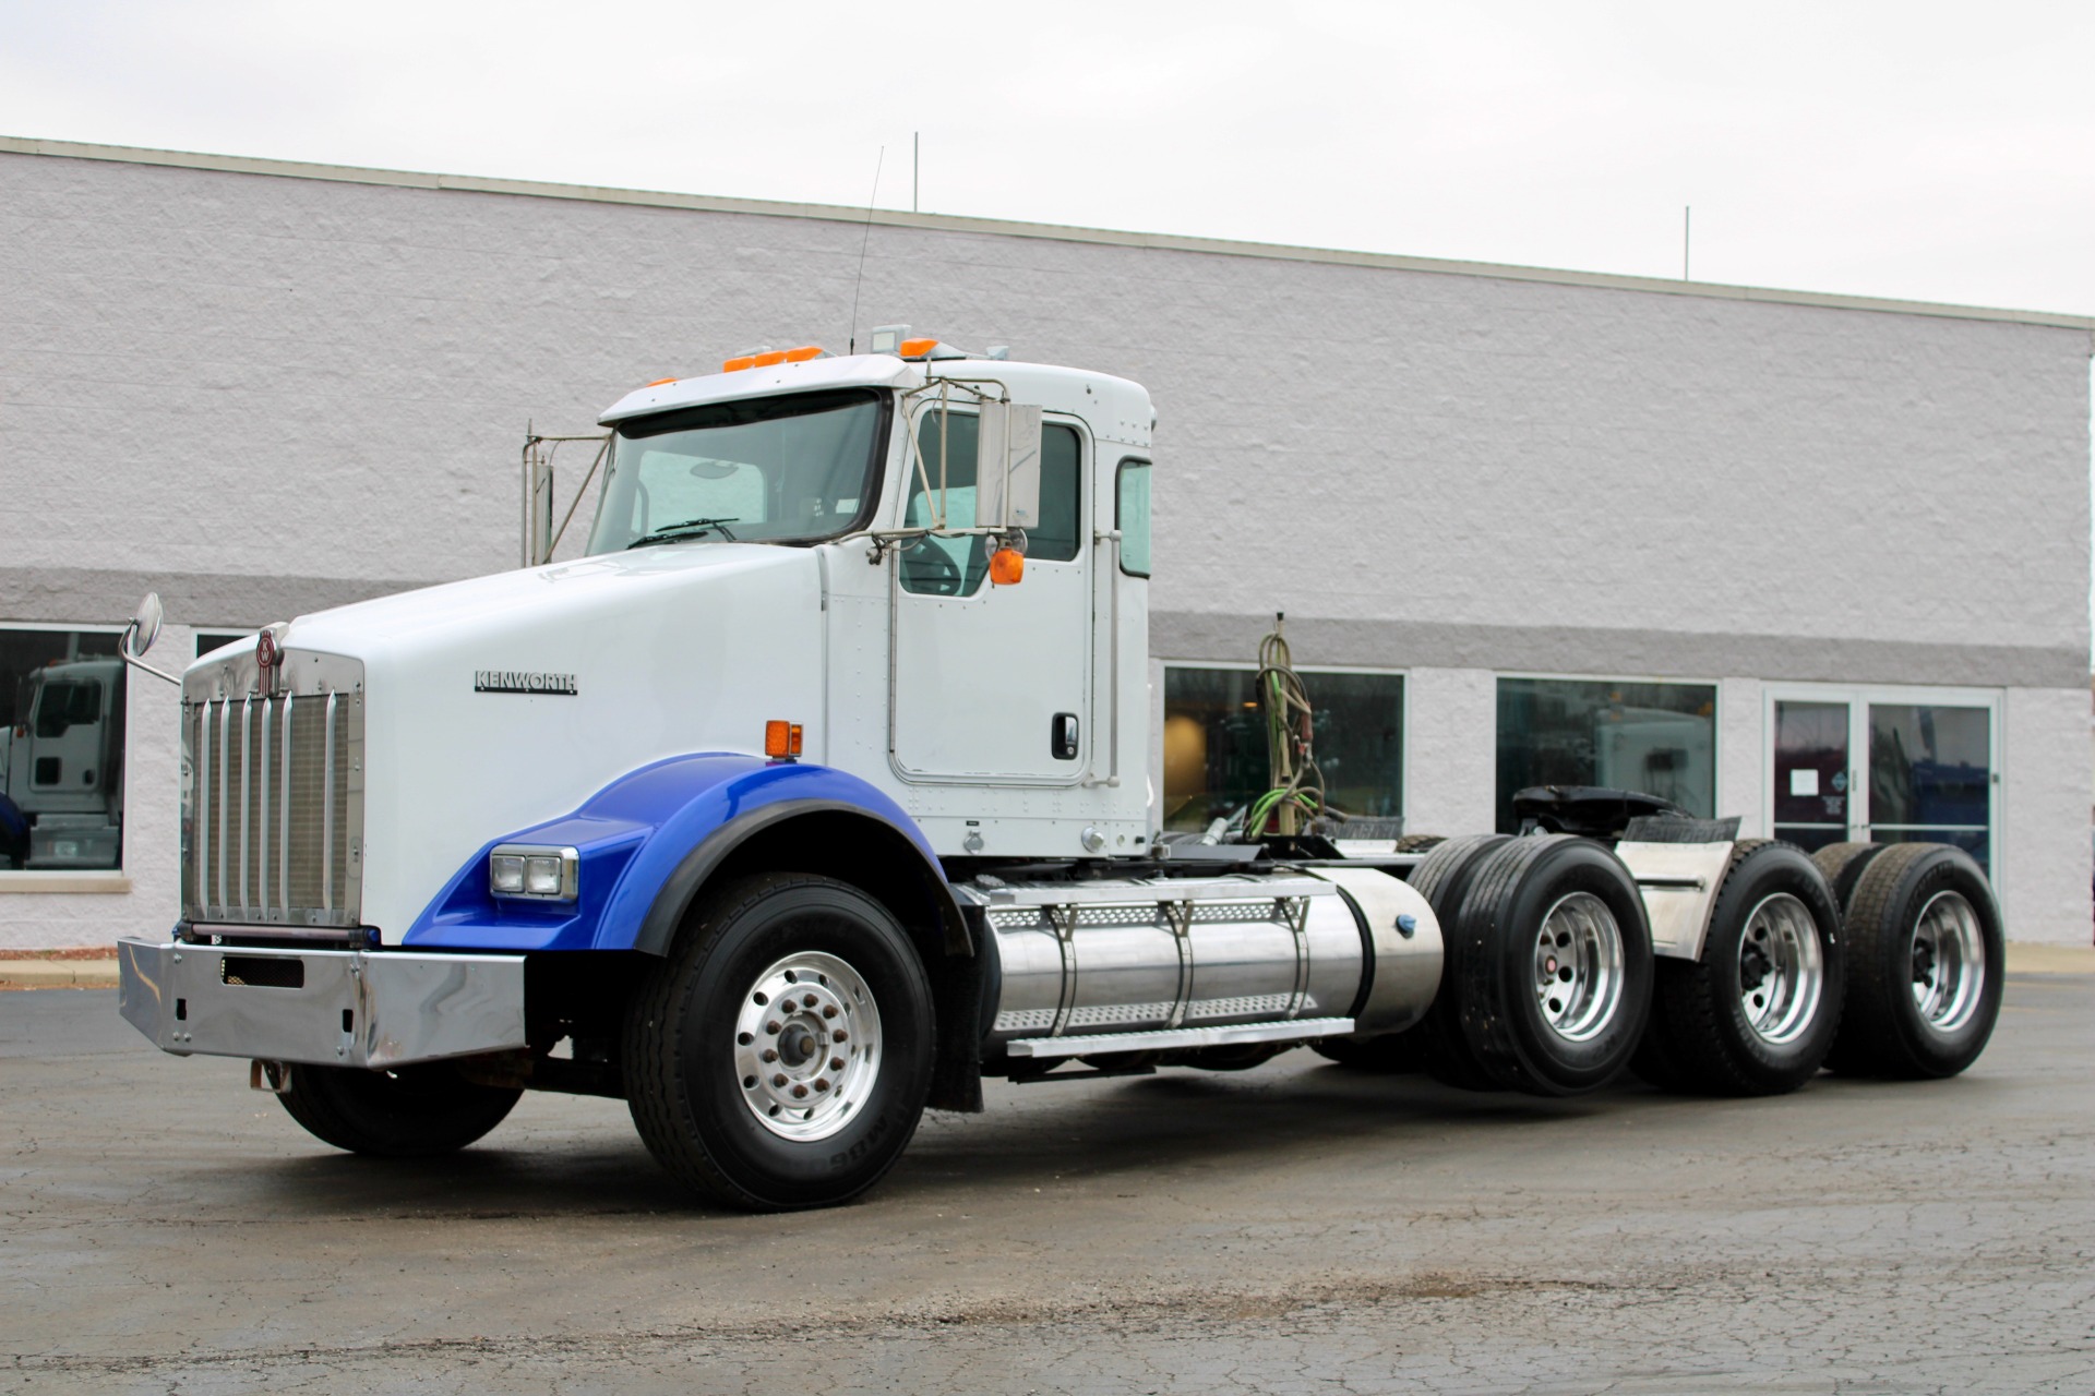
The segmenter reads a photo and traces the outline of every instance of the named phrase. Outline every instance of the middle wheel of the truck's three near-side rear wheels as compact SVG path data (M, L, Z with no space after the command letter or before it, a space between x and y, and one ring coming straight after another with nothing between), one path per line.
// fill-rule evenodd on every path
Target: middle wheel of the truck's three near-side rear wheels
M1636 1074L1695 1095L1783 1095L1808 1082L1839 1030L1839 904L1804 850L1739 839L1718 883L1701 959L1659 961ZM1779 963L1770 963L1770 946ZM1777 994L1783 984L1795 992ZM1781 1017L1760 1028L1747 1017L1770 1011Z

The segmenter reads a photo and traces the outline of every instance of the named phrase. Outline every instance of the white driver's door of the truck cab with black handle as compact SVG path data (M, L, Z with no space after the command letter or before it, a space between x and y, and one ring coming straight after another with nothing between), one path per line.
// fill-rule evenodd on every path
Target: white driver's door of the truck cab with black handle
M974 525L974 416L918 416L926 481L911 469L905 527L930 525L945 444L947 527ZM1091 749L1089 442L1041 431L1041 521L1024 580L989 584L983 538L924 538L892 555L888 749L911 781L1075 785Z

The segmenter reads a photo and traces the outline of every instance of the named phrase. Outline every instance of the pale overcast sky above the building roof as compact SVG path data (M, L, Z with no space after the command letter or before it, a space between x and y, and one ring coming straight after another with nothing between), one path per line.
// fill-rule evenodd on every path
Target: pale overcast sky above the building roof
M2095 2L0 0L0 134L2095 314ZM882 159L882 147L886 155Z

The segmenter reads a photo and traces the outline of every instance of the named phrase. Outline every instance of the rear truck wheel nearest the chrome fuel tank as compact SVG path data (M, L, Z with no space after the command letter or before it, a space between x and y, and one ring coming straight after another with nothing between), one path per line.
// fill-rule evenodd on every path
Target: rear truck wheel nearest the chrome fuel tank
M1550 917L1554 944L1544 946ZM1630 1063L1651 1011L1651 927L1630 869L1605 843L1527 835L1477 866L1448 938L1452 1007L1477 1063L1529 1095L1598 1090ZM1588 954L1590 950L1590 954ZM1538 984L1544 956L1571 971L1563 996ZM1590 977L1578 967L1598 965ZM1592 988L1592 1017L1578 996ZM1552 1023L1561 1011L1569 1023Z

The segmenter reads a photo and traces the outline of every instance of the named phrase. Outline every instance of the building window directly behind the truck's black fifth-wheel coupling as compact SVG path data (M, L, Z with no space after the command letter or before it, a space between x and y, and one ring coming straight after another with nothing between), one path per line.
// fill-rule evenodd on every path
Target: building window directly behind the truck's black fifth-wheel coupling
M1607 785L1716 812L1716 684L1586 678L1498 680L1498 829L1517 833L1513 793Z

